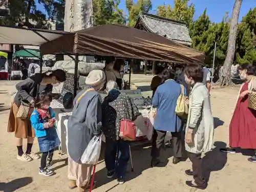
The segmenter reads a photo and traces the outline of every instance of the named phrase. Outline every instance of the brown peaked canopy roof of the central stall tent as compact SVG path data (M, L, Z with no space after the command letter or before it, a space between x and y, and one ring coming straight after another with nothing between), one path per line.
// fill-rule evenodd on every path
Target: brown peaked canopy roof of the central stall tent
M203 52L158 34L110 24L62 35L42 44L40 51L42 54L78 53L179 63L204 62Z

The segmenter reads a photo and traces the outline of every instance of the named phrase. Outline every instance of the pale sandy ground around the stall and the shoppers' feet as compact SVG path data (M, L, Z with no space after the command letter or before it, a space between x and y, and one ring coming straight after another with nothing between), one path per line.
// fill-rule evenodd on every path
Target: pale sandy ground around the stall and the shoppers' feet
M127 78L127 75L125 76ZM141 89L144 96L150 96L148 91L152 76L133 75L132 82ZM43 177L38 175L39 160L21 162L16 160L16 146L14 135L7 133L9 115L10 93L15 91L16 81L0 82L0 191L44 191L44 192L68 192L67 161L65 156L54 155L56 175ZM220 147L228 144L228 126L236 102L238 88L216 89L211 91L212 113L215 117L216 148L203 157L205 175L209 178L209 185L205 191L233 192L255 191L254 176L256 164L247 161L250 151L236 155L226 155L219 152ZM26 148L26 141L24 142ZM185 181L189 180L184 170L191 167L189 160L177 165L172 164L172 149L166 148L162 152L162 159L166 159L163 167L150 167L150 145L132 147L134 172L127 168L126 180L123 185L117 185L116 180L106 179L105 164L102 161L97 165L95 179L97 188L95 192L103 191L130 191L130 192L169 192L182 191L193 192L195 188L189 188ZM38 152L37 141L33 151Z

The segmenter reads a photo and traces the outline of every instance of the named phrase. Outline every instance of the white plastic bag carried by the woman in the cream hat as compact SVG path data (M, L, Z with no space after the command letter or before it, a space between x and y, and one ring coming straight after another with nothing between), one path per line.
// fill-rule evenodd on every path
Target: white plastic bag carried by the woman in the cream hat
M100 149L101 136L94 136L82 154L81 163L96 165L99 160Z

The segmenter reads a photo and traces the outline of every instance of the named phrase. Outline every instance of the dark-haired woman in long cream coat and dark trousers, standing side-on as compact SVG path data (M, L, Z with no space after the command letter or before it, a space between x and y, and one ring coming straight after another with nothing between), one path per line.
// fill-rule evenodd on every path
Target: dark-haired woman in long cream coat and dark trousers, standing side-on
M192 170L185 173L194 177L186 181L190 187L205 189L207 181L202 174L201 154L211 150L214 137L214 119L211 115L209 92L203 81L203 70L199 65L189 65L184 70L185 80L191 86L186 99L189 104L188 119L185 131L185 148L192 162Z

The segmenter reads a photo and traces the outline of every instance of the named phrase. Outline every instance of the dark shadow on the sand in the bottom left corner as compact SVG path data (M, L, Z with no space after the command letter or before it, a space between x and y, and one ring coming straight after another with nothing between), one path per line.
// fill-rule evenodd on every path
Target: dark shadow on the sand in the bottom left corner
M24 177L19 179L14 179L8 183L0 183L0 191L4 192L14 192L18 191L19 188L22 188L30 183L32 183L32 177Z

